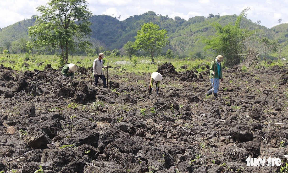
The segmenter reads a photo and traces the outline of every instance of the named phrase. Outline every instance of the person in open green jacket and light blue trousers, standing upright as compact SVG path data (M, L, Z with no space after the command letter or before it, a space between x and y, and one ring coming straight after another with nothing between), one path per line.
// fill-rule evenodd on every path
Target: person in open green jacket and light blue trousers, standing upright
M214 96L218 97L217 92L219 89L219 79L221 82L223 81L222 77L222 66L221 62L223 61L223 56L218 55L214 61L210 64L210 81L212 85L212 89L205 93L205 96L211 95L214 92Z

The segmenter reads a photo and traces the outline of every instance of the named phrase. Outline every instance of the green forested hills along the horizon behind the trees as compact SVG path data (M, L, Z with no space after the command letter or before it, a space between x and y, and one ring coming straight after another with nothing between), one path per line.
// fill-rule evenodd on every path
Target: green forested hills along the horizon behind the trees
M107 15L94 15L90 18L91 36L90 41L93 42L94 48L103 46L106 50L120 49L128 41L134 41L137 35L137 30L141 28L143 23L152 22L160 26L160 29L167 30L169 37L169 45L163 49L173 50L174 54L179 56L189 56L203 52L203 44L196 42L198 36L209 36L215 33L212 27L213 22L218 22L221 25L228 23L234 24L237 15L209 15L192 17L189 20L184 20L180 17L169 18L168 15L162 16L155 12L149 11L141 15L130 16L129 18L120 21L120 18ZM7 48L10 43L10 52L15 52L16 47L20 47L21 42L29 41L28 27L34 24L33 16L31 19L22 20L13 25L5 27L0 31L0 47ZM261 32L262 37L269 39L280 40L282 46L282 54L288 55L288 25L281 24L268 29L264 26L256 25L251 20L244 18L241 21L242 28L248 28ZM12 49L12 47L14 48ZM287 47L287 48L286 48ZM19 51L19 50L18 50ZM276 56L276 55L275 55Z

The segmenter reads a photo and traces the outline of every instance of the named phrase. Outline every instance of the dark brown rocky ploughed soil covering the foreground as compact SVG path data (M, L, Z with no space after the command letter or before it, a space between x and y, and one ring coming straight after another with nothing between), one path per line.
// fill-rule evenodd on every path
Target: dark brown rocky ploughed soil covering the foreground
M1 65L0 172L280 172L247 158L287 159L288 65L224 69L217 98L204 96L208 68L159 64L156 96L150 74L112 74L103 89L83 67L72 80Z

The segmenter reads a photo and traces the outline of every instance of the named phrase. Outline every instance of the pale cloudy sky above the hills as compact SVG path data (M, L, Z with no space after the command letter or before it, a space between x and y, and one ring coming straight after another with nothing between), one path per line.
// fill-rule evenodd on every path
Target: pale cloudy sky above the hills
M49 0L1 0L0 28L37 14L36 7L46 5ZM129 16L154 11L170 18L179 16L188 20L195 16L209 14L239 15L250 7L247 18L252 22L261 21L260 25L271 28L281 23L288 23L288 0L86 0L93 15L106 14L125 20Z

